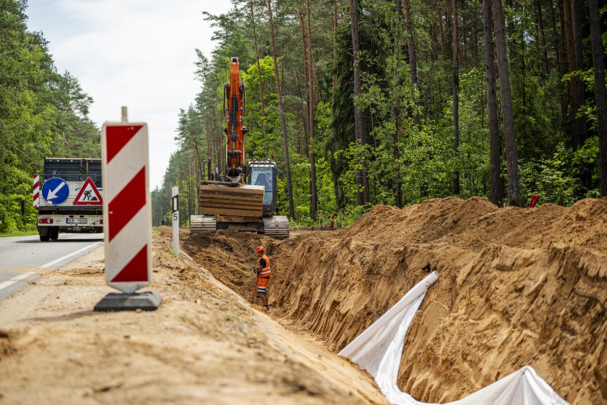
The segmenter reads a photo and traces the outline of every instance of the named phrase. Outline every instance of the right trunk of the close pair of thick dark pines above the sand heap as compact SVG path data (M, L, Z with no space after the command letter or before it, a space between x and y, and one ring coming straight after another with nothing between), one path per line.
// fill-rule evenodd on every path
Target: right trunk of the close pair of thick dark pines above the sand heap
M504 138L506 138L506 166L508 173L508 204L520 205L518 191L518 155L517 138L514 133L514 117L512 115L512 97L510 95L510 73L506 51L506 34L504 33L504 14L501 1L493 0L493 30L495 32L495 48L497 50L497 67L500 73L501 110L504 119Z

